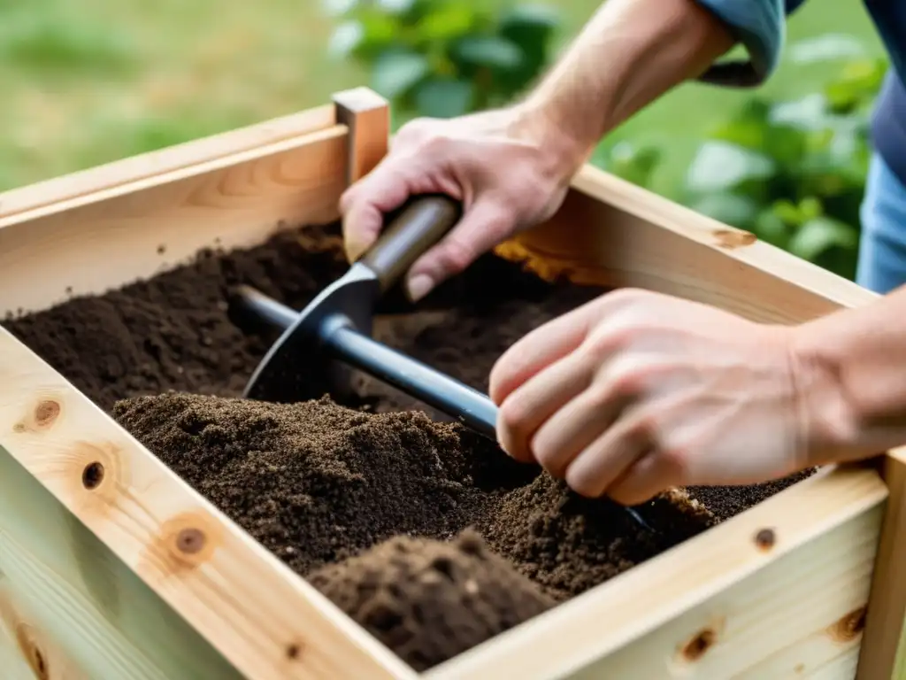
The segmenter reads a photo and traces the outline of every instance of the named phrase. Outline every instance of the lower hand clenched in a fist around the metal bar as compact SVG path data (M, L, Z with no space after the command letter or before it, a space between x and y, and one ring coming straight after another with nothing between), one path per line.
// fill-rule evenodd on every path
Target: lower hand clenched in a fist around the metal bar
M626 505L671 486L784 477L809 466L792 337L671 296L606 294L497 361L498 441Z

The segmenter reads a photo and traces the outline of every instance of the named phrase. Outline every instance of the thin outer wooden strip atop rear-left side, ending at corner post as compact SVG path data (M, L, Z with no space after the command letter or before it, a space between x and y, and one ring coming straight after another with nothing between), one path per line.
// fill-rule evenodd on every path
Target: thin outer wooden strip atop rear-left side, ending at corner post
M0 220L42 209L60 209L99 191L116 189L155 175L185 170L198 163L290 140L336 124L333 106L325 104L244 128L187 141L158 151L73 172L63 177L0 192Z

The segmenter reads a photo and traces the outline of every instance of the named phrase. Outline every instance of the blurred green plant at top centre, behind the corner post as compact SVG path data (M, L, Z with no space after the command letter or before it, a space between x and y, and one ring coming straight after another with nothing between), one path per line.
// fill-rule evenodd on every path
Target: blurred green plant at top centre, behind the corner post
M337 57L371 72L371 87L404 117L449 118L511 101L550 58L553 7L483 0L345 0Z

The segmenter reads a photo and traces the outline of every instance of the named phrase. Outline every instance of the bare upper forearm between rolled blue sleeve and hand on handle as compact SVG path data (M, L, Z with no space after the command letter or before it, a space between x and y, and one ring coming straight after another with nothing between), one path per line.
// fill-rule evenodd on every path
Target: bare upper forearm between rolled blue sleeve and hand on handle
M607 0L525 102L578 165L602 136L734 43L695 0Z

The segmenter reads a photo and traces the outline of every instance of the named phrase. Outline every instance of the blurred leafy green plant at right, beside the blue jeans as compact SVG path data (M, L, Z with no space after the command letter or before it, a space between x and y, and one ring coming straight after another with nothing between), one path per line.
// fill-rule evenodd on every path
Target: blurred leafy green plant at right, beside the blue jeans
M852 279L870 116L887 67L855 57L817 92L747 99L709 131L670 198ZM622 142L593 162L648 187L662 155Z

